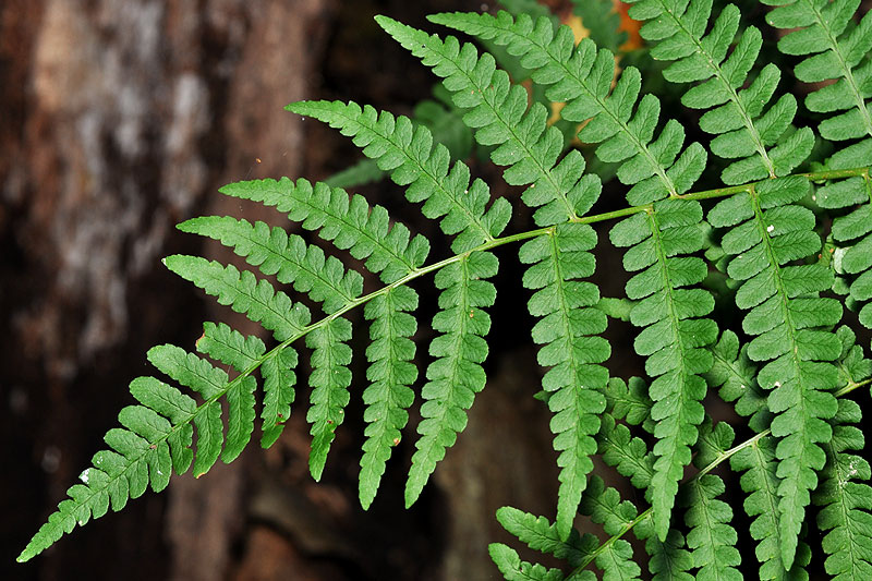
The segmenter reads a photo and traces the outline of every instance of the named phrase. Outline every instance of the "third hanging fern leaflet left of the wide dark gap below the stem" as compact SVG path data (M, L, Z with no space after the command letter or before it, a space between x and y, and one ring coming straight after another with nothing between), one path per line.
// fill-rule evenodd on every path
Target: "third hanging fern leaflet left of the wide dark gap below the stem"
M306 421L312 424L312 451L308 456L308 470L312 477L320 480L327 452L334 441L336 428L344 420L344 408L350 396L351 323L338 317L306 335L306 347L312 349L312 406Z

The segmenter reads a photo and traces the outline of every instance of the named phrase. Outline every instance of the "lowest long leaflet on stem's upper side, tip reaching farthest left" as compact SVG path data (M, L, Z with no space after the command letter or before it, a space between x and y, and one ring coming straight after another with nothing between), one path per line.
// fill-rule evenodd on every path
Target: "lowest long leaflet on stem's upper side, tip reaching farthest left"
M173 255L164 264L185 280L190 280L207 294L218 298L218 303L230 305L237 313L272 331L276 339L286 341L303 335L311 315L308 308L276 291L266 280L257 280L247 270L239 271L233 265L222 265L198 256Z

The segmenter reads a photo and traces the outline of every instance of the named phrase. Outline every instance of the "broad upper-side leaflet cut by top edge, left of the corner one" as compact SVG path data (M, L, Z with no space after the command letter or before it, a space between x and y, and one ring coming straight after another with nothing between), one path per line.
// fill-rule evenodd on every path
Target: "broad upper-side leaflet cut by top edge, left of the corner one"
M663 73L673 83L693 83L681 98L686 107L711 109L700 119L700 129L716 135L713 154L738 158L722 173L727 184L747 183L787 175L811 153L810 128L794 131L797 100L786 94L765 112L780 78L770 63L747 88L748 78L762 47L762 35L748 26L729 51L739 29L740 13L727 4L712 23L711 0L630 0L630 17L644 22L642 38L656 41L651 56L675 61ZM727 56L729 52L729 56ZM712 109L714 107L714 109Z

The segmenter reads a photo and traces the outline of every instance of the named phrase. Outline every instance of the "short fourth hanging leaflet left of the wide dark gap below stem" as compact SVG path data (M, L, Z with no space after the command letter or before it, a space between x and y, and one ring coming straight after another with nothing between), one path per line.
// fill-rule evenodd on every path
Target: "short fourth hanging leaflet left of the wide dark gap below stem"
M296 351L291 347L275 350L261 364L264 377L264 402L261 410L261 447L269 448L284 429L291 416L291 403L296 397Z

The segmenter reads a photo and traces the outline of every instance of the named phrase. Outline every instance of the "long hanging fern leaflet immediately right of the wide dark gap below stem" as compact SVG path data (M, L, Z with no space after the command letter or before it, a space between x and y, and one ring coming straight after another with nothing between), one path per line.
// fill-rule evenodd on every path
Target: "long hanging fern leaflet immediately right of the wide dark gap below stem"
M593 274L594 258L588 251L595 245L596 234L590 226L567 223L525 242L520 250L521 262L532 264L523 285L536 290L528 308L541 317L533 327L533 340L544 346L538 363L552 367L542 386L550 394L548 407L555 414L550 426L561 469L557 530L565 538L593 469L593 436L600 431L597 416L606 408L601 390L608 372L598 365L611 352L608 342L598 337L606 329L606 316L594 308L600 301L596 286L576 280Z

